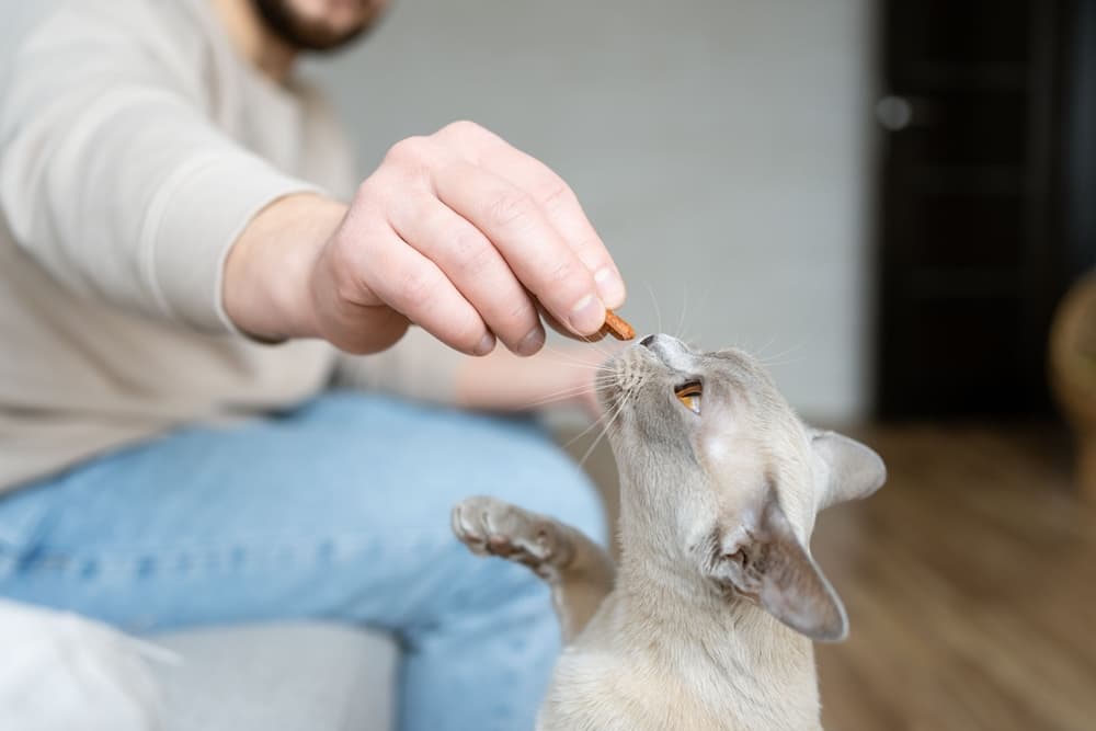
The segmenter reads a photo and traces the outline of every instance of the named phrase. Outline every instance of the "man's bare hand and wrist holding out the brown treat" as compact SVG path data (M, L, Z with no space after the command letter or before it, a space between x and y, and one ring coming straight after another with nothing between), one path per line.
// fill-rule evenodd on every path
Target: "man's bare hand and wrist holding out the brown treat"
M266 339L320 336L352 353L414 322L483 355L540 350L541 311L594 335L624 302L615 264L567 184L472 123L397 144L349 207L289 196L247 228L225 307Z

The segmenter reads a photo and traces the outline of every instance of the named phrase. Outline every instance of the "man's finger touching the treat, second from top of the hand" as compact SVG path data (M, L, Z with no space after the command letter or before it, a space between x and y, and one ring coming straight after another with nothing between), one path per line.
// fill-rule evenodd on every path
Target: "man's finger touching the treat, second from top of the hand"
M578 335L601 329L605 305L593 273L528 193L464 160L435 171L433 183L438 198L483 232L557 320Z

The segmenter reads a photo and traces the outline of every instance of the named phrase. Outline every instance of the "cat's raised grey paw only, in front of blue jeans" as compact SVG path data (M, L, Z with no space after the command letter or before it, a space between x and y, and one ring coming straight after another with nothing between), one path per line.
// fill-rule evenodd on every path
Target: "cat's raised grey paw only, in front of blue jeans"
M543 573L569 560L561 526L495 498L468 498L453 509L453 533L473 553L499 556Z

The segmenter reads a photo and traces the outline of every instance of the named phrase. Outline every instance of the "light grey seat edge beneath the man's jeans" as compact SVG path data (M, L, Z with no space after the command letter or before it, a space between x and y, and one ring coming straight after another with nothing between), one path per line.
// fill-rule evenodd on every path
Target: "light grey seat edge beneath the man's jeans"
M158 669L167 731L390 731L399 653L388 637L318 623L215 627L149 638L182 658Z

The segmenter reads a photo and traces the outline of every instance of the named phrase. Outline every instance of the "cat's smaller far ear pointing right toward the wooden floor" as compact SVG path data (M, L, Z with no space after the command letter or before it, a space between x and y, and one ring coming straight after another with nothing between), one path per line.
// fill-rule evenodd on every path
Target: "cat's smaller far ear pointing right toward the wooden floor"
M819 510L867 498L887 481L887 466L871 448L836 432L811 435L815 469L821 470Z

